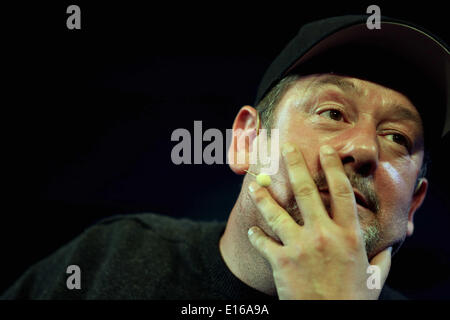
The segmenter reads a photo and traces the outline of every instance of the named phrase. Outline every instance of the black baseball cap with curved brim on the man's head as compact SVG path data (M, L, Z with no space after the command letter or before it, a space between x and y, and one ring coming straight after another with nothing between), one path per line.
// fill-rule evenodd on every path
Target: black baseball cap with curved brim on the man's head
M291 73L355 76L404 93L422 117L431 148L450 130L449 47L420 26L386 16L380 29L369 29L368 17L332 17L301 27L265 72L254 105Z

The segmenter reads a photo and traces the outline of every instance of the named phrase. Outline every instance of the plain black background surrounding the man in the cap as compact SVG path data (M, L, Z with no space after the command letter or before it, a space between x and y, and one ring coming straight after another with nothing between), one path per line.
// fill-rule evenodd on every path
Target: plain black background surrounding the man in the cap
M81 30L66 8L81 8ZM342 14L415 22L449 42L444 4L59 2L3 10L5 187L0 291L99 219L156 212L226 220L241 186L226 165L171 161L173 130L231 128L301 25ZM204 146L207 145L204 144ZM416 230L388 283L448 299L448 139Z

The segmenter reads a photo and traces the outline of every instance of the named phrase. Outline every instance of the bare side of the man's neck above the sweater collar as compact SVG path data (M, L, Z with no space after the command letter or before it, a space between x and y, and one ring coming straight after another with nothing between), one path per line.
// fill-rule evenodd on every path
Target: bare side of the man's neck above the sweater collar
M248 286L268 295L276 295L270 264L248 240L247 231L259 225L260 214L250 199L246 185L231 210L219 248L231 273Z

